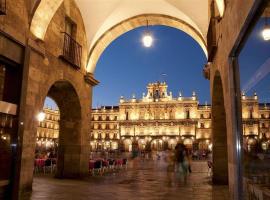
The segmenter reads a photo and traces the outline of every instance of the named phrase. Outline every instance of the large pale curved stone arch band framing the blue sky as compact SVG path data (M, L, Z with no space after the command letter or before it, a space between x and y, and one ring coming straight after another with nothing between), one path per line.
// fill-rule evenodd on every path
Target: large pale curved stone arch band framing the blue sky
M207 45L203 35L189 23L164 14L142 14L116 24L96 40L89 52L87 71L94 73L99 57L116 38L132 29L146 26L146 24L149 26L169 26L187 33L200 45L206 57L208 56Z

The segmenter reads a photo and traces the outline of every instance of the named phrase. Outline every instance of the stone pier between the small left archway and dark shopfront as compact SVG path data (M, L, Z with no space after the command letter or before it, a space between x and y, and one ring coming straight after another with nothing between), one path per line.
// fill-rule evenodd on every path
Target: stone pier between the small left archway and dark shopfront
M17 144L17 160L15 180L12 186L12 199L23 198L32 190L34 153L38 121L35 118L40 111L41 95L38 91L37 79L40 73L31 67L33 53L31 48L25 48L23 80L19 110L19 128ZM41 56L37 57L40 62Z

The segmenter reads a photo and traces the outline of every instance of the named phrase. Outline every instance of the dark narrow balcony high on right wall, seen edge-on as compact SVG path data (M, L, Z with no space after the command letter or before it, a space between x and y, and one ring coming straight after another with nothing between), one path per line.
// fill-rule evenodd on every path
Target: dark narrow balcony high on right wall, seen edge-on
M215 18L215 4L214 1L211 3L211 19L209 22L207 32L207 51L208 51L208 62L212 62L217 51L217 38L216 38L216 18Z

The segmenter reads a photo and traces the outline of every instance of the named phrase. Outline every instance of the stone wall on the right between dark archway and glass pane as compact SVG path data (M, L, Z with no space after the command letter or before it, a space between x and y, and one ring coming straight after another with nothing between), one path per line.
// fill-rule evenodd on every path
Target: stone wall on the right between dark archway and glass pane
M214 76L216 72L220 72L223 84L224 104L226 111L226 122L219 121L217 123L226 123L227 127L227 143L228 143L228 171L229 171L229 189L231 199L239 198L239 189L241 190L241 181L238 179L240 173L238 164L241 162L237 157L236 134L236 105L235 105L235 85L233 81L233 69L229 63L229 54L233 49L240 31L246 21L246 18L253 6L253 0L226 1L226 10L223 18L217 23L218 49L214 58L211 72L211 96L212 101L216 97L213 95ZM222 106L222 105L220 105ZM213 124L213 123L212 123ZM215 126L213 124L213 126ZM216 134L213 132L213 134ZM213 144L215 145L215 144ZM224 156L225 153L220 156Z

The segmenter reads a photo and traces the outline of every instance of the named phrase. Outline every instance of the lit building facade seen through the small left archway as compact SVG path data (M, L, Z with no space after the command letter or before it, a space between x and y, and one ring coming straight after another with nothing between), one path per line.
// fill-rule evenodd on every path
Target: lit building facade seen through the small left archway
M57 109L44 108L45 119L38 124L36 150L55 150L59 138L60 113Z

